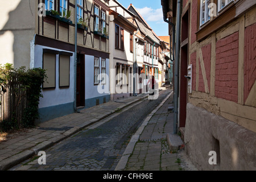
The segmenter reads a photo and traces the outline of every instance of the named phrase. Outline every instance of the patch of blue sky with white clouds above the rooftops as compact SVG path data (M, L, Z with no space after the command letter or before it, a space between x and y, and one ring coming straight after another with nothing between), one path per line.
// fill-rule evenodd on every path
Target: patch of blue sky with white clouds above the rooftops
M168 35L168 23L163 20L161 0L117 0L124 7L130 4L139 11L152 30L158 36Z

